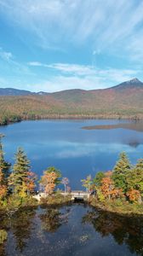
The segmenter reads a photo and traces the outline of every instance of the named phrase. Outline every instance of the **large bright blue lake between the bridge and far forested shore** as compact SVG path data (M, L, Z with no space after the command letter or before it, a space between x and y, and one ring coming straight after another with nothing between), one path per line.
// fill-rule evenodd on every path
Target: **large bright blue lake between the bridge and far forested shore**
M100 128L82 129L94 125ZM0 133L5 134L7 160L14 163L14 153L22 147L38 177L48 166L55 166L69 178L72 189L82 189L82 178L111 170L120 152L125 151L132 164L142 158L142 129L141 121L36 120L1 126Z

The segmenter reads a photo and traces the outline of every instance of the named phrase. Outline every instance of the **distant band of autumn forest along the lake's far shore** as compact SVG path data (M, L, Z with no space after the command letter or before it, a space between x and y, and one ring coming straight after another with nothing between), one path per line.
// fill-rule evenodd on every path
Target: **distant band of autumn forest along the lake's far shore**
M0 125L26 119L143 119L142 103L121 102L88 96L79 101L66 96L0 96Z

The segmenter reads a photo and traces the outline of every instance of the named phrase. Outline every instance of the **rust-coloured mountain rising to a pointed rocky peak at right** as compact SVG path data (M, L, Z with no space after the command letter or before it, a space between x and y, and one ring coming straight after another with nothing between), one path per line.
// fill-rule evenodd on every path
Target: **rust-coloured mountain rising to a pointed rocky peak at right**
M78 108L118 108L131 104L139 106L143 101L143 83L138 79L132 79L116 86L102 90L62 90L51 93L54 99ZM141 99L140 99L141 97ZM131 106L131 105L130 105Z

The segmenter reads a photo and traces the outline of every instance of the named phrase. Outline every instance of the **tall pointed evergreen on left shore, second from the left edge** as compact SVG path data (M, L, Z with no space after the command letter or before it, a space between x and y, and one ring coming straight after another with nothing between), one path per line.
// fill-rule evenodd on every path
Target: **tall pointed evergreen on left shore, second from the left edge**
M30 172L30 161L22 148L18 148L15 154L15 163L13 166L13 172L9 177L9 184L14 194L21 194L23 188L26 189L26 181ZM26 191L27 192L27 191Z

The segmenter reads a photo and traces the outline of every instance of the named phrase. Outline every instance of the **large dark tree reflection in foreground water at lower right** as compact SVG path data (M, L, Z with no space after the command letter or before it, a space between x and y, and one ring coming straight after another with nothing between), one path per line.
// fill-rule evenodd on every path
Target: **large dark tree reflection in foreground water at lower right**
M143 255L143 218L93 210L83 216L85 223L93 224L101 236L112 235L119 245L126 244L131 253Z

